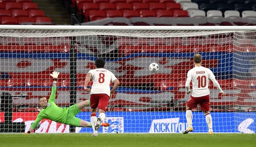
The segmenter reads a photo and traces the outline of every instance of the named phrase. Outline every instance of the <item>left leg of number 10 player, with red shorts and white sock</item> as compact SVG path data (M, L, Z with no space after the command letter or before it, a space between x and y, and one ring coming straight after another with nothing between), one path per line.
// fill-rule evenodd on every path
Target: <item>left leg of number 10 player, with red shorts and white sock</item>
M187 134L188 132L193 131L192 127L192 119L193 119L193 114L192 114L192 109L196 108L198 105L198 102L196 101L196 98L193 96L190 96L188 99L188 102L186 104L186 120L188 123L188 128L183 132L183 134Z

